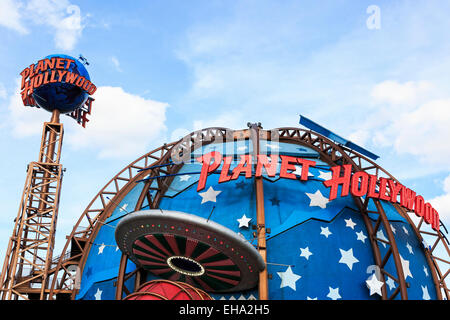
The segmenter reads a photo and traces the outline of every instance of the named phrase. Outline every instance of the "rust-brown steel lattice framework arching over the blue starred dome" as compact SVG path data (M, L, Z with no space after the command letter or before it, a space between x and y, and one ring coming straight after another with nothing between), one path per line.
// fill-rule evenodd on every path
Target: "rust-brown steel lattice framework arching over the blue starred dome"
M312 148L313 150L316 150L320 154L321 159L327 162L330 166L350 164L354 172L365 171L371 175L375 175L377 178L388 177L394 181L397 181L397 179L395 179L391 174L378 166L372 160L347 147L338 145L328 138L310 130L300 128L278 128L266 131L252 127L250 130L236 131L225 128L206 128L193 132L179 141L165 144L135 160L121 170L105 185L104 188L102 188L102 190L100 190L100 192L94 197L86 210L80 216L72 230L72 233L67 237L63 254L57 259L57 261L55 261L55 268L49 271L53 274L53 280L49 289L48 298L74 299L76 297L77 288L74 286L72 280L73 270L75 269L79 274L82 274L93 239L95 239L105 220L112 214L117 204L120 203L120 200L133 188L137 181L149 176L154 178L146 181L135 210L141 209L145 198L147 198L150 208L158 208L159 201L167 191L167 188L173 179L173 175L176 174L181 167L176 162L170 163L169 159L173 160L177 159L177 157L185 157L186 154L189 154L192 150L194 150L194 148L207 145L209 143L242 139L253 140L255 138L255 133L252 134L252 132L256 132L257 137L263 139L295 143ZM156 186L153 186L153 180L156 180ZM111 197L111 201L107 201L108 197ZM257 197L259 197L260 200L264 198L262 188L260 188L260 193L257 193ZM363 217L367 232L369 234L374 261L381 271L382 280L384 281L386 277L389 277L397 283L397 290L389 297L387 296L386 290L383 289L382 299L394 299L398 296L398 294L400 294L401 299L408 299L408 284L405 281L397 244L381 202L378 199L366 198L363 200L359 197L354 197L354 201ZM369 201L374 202L376 208L375 211L368 210ZM450 250L447 239L443 235L442 231L434 232L427 230L425 224L423 224L423 219L419 222L414 222L413 212L408 212L400 206L397 206L397 209L409 222L420 241L424 240L424 236L429 238L431 237L433 239L433 245L431 248L424 249L427 262L432 273L438 299L443 299L444 297L449 299L450 290L445 282L449 274L450 264L448 258L450 256ZM265 226L264 220L262 219L264 209L262 208L262 210L258 210L261 211L262 215L258 222L258 230L260 232L258 233L259 239L260 237L265 238ZM369 214L374 214L378 218L373 221L369 218ZM83 224L84 227L82 227ZM377 232L381 227L383 227L387 233L387 240L377 237ZM384 256L381 255L379 243L384 243L389 246L388 251ZM259 243L258 247L259 249L265 250L262 243ZM446 258L441 258L435 255L434 252L437 247L443 248L444 252L447 254ZM385 270L385 266L390 259L394 262L395 274L390 274ZM141 275L143 271L140 269L137 269L133 272L133 274L126 275L126 261L127 257L123 256L119 266L119 273L116 282L116 299L122 299L124 294L128 294L130 292L130 290L124 286L124 282L131 275L137 275L135 287L139 287L141 285L141 279L144 279ZM442 265L444 267L442 267ZM262 277L263 278L260 282L267 280L267 274ZM267 288L267 286L260 286L260 298L269 298L267 291L264 291L267 289L261 289L261 287Z

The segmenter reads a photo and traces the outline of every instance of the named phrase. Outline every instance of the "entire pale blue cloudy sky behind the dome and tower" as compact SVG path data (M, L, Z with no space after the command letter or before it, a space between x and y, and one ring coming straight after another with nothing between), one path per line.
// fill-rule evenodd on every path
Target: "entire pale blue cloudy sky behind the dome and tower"
M82 54L98 87L64 123L55 255L97 192L205 127L299 127L304 115L380 156L450 227L450 2L0 0L0 256L50 114L19 73Z

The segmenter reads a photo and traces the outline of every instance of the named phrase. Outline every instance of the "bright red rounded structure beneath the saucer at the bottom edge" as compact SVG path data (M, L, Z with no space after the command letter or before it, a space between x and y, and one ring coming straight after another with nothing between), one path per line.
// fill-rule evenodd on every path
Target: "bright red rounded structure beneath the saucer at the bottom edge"
M124 300L212 300L203 290L184 282L152 280Z

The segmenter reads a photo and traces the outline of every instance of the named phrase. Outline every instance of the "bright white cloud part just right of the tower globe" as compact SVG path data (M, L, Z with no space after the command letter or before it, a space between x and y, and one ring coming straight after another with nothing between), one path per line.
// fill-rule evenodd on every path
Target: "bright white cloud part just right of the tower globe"
M67 135L73 148L92 149L101 158L129 158L148 151L165 131L166 103L144 99L120 87L99 87L86 128Z

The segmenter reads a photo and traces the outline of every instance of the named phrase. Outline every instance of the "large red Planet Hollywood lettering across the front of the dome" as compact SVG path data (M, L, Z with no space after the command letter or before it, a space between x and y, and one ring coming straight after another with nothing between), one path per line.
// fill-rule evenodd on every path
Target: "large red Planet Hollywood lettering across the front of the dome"
M255 166L252 155L241 155L238 165L230 173L233 157L223 157L220 152L212 151L196 159L202 164L197 191L205 188L208 175L216 171L222 163L219 183L236 180L241 174L245 175L246 178L261 177L263 169L269 177L274 177L278 169L279 158L281 159L279 176L286 179L298 180L299 178L290 171L296 170L295 165L301 165L300 180L306 181L308 180L309 168L316 165L315 161L299 157L258 154ZM342 169L344 174L341 176ZM351 165L335 166L331 168L331 171L332 178L323 182L327 188L330 188L330 201L337 198L339 186L341 186L341 197L348 196L350 193L355 197L367 196L391 203L398 203L397 199L400 197L399 204L402 207L414 211L417 216L423 217L424 221L430 224L434 230L439 230L439 213L428 202L425 202L422 196L416 195L413 190L392 179L377 179L377 176L369 175L364 171L352 174ZM376 189L377 185L378 190ZM388 190L389 193L387 193Z

